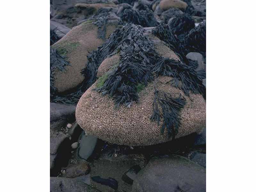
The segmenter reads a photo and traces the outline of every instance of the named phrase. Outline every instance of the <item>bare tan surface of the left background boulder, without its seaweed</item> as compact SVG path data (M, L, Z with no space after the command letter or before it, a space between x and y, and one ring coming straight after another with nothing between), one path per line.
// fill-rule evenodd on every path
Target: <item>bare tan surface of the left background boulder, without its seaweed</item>
M66 66L66 71L59 68L54 70L53 86L57 92L67 92L76 88L84 80L81 70L87 63L87 55L103 44L104 39L98 34L98 26L92 23L92 20L86 21L73 28L66 36L52 45L57 52L66 57L70 65ZM106 38L116 29L113 23L107 24Z

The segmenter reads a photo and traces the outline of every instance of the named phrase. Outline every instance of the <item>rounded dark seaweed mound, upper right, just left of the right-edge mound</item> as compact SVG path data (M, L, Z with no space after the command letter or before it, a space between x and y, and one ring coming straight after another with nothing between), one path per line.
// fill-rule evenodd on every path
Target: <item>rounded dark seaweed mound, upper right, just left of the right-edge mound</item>
M172 32L182 40L191 29L195 28L195 21L191 16L185 13L172 19L168 25L171 27Z

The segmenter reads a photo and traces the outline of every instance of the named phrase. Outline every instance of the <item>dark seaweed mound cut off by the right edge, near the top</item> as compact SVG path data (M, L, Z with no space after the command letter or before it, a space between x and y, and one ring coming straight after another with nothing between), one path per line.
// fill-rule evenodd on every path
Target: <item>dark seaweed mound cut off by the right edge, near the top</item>
M183 42L186 53L199 52L206 57L206 22L189 31Z

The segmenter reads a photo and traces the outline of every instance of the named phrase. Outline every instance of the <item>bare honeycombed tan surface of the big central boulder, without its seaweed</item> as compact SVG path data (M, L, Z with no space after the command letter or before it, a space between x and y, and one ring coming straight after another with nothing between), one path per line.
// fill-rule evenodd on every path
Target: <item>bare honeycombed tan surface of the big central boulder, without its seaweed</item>
M137 29L139 27L136 26L134 28ZM133 28L131 28L131 30L132 29ZM130 30L128 30L128 32L130 32ZM125 36L125 33L126 32L122 32L121 34ZM141 36L143 41L145 41L144 43L146 43L149 41L148 38L150 38L150 42L153 42L153 44L145 47L154 47L156 53L161 57L173 59L174 61L179 60L175 52L157 37L153 35L147 37L141 33L134 36L132 36L132 34L128 36L126 41ZM111 35L111 37L120 40L117 36L116 33ZM111 37L108 40L112 40ZM126 41L122 42L130 46L135 43ZM138 39L138 41L140 41L140 39ZM112 45L109 46L112 47ZM135 45L135 50L139 48L137 47L138 45ZM171 76L160 75L156 78L155 82L151 81L147 86L138 84L136 90L139 95L139 101L133 102L132 105L129 104L128 107L120 105L119 108L116 108L114 99L109 98L106 94L102 95L100 92L95 91L95 89L102 87L104 82L107 82L106 79L108 79L108 75L113 68L119 67L121 62L120 57L123 57L123 60L128 58L128 56L125 56L124 52L128 51L129 54L133 53L131 51L132 47L126 49L125 46L120 45L120 49L123 49L123 51L120 52L120 56L118 55L118 48L116 54L112 54L110 57L103 60L98 70L98 73L100 73L98 77L100 78L83 94L77 104L76 120L81 128L90 135L95 135L102 140L119 145L145 146L172 140L172 138L168 136L169 133L166 129L161 133L161 127L164 122L163 118L161 118L159 124L156 121L151 121L152 113L155 111L153 102L156 96L154 89L156 88L159 92L171 94L173 98L178 98L181 95L181 97L184 97L186 100L186 104L184 104L184 107L179 113L180 127L175 138L186 136L193 132L202 132L206 119L205 100L203 96L192 92L190 96L186 95L181 89L171 84L173 79ZM103 52L104 50L101 51ZM107 71L108 69L110 70ZM161 117L163 116L161 115Z

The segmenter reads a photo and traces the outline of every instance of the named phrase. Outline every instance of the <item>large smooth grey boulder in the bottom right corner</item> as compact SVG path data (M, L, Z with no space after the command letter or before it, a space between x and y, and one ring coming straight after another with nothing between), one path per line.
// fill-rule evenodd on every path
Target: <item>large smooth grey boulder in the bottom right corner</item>
M132 192L204 192L206 170L182 156L154 158L137 174Z

